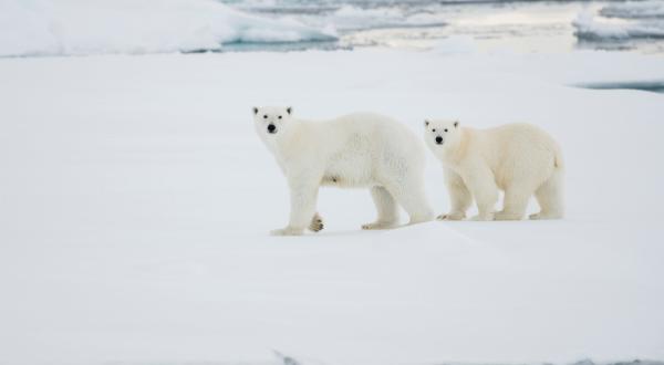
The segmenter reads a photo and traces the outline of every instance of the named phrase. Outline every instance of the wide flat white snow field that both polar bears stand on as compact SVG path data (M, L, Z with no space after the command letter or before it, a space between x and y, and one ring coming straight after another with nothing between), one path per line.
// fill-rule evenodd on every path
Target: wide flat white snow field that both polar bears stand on
M662 80L661 56L463 49L0 60L0 363L664 358L664 95L569 86ZM367 232L369 192L330 188L321 233L269 237L270 104L535 123L568 217Z

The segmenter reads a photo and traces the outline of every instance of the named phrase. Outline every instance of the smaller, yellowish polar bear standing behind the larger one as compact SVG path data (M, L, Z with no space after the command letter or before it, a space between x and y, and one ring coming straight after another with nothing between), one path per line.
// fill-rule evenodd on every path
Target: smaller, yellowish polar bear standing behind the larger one
M530 219L562 218L562 155L558 144L529 124L489 129L466 128L458 121L425 121L425 140L440 159L452 210L438 219L459 220L473 198L474 220L519 220L535 195L540 212ZM498 190L502 210L494 212Z

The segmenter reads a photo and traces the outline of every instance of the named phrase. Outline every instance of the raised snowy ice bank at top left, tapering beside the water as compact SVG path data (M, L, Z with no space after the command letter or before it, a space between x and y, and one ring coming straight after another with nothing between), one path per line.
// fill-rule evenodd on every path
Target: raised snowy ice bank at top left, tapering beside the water
M214 0L0 0L0 56L219 50L238 42L331 41L293 20Z

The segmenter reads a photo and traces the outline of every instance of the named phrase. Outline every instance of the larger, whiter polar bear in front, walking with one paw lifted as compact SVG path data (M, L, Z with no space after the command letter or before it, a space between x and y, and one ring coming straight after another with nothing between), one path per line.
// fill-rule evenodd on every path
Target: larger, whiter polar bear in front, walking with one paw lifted
M317 123L293 117L291 107L274 106L253 107L253 122L290 189L289 223L272 234L321 230L315 205L322 185L371 189L378 218L363 229L398 225L397 204L408 212L411 223L433 218L424 191L424 148L397 122L356 113Z

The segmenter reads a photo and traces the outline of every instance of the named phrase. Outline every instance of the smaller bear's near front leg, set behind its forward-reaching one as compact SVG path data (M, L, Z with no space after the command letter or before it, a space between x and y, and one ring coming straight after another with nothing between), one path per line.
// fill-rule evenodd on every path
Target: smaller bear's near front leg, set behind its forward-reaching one
M471 220L494 220L496 202L498 201L498 186L494 173L484 163L478 161L467 169L464 176L466 186L477 202L477 216Z

